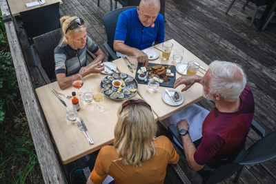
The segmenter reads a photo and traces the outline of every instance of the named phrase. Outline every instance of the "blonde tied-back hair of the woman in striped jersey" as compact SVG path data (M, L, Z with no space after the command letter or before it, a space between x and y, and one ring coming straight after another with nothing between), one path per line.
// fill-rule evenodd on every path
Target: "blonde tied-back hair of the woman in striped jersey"
M74 37L74 35L78 32L86 31L86 25L83 24L83 25L79 25L74 30L68 30L66 33L69 23L72 20L77 19L77 18L78 18L77 16L70 17L70 16L66 15L66 16L61 17L61 19L59 19L59 21L61 23L61 31L62 31L62 37L61 37L61 41L59 42L59 47L64 47L67 44L72 45L72 37ZM68 40L66 39L65 35L68 37Z

